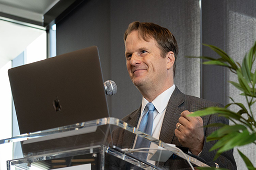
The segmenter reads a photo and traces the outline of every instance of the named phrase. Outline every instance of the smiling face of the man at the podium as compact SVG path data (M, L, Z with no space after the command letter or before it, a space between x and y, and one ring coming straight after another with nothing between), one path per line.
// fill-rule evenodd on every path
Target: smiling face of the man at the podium
M133 84L140 87L165 85L168 77L168 57L161 57L157 42L144 41L138 31L131 32L125 41L126 67Z

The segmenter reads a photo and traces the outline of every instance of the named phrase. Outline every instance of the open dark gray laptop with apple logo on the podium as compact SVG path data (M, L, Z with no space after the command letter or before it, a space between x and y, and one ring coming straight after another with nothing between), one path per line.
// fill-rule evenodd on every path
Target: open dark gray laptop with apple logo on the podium
M96 46L9 69L20 134L109 117Z

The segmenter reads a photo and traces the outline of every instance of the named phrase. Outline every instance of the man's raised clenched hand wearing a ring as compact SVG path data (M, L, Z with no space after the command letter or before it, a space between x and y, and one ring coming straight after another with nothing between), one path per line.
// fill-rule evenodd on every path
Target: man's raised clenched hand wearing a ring
M180 114L174 133L183 147L189 148L194 155L198 155L204 146L203 120L200 116L188 117L187 115L191 113L185 110Z

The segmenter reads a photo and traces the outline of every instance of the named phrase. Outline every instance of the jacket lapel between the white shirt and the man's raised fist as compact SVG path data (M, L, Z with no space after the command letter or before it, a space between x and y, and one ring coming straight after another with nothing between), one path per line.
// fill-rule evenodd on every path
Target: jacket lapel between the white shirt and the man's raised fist
M183 108L179 108L183 102L184 94L176 87L166 108L159 140L166 143L173 143L174 130L176 129L176 124L179 122L180 113L184 110ZM173 144L181 145L178 141Z

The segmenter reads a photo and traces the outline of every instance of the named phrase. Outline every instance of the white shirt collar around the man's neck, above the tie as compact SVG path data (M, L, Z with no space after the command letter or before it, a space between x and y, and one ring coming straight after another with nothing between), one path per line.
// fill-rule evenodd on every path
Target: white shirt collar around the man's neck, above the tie
M168 88L167 90L165 90L163 93L161 93L159 96L157 96L155 98L155 100L152 101L152 103L154 104L157 112L160 114L162 113L162 111L165 110L165 108L168 105L168 102L170 100L170 97L173 93L175 89L175 85L173 84L170 88ZM143 111L147 105L147 103L149 103L149 101L147 101L147 99L145 99L144 97L142 98L142 110L141 110L141 114L143 114Z

